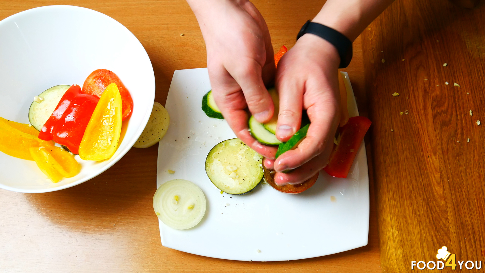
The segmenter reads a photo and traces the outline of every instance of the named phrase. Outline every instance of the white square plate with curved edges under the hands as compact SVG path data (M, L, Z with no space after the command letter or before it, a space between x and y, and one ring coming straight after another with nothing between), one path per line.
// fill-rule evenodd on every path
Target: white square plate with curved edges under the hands
M321 171L315 185L300 194L281 193L267 184L244 195L221 194L207 177L206 156L217 143L236 136L226 120L202 111L209 90L207 68L175 71L165 106L170 127L159 144L157 188L172 179L192 181L204 192L207 211L188 230L159 221L163 246L215 258L279 261L367 245L369 178L363 142L348 178ZM352 117L358 112L350 94Z

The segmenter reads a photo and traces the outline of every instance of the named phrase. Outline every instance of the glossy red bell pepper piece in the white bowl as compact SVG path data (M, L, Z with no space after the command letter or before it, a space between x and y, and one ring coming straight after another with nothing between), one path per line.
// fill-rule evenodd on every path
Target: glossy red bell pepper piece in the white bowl
M98 101L97 96L82 94L79 85L72 85L42 126L39 138L54 140L73 154L78 154L82 136Z

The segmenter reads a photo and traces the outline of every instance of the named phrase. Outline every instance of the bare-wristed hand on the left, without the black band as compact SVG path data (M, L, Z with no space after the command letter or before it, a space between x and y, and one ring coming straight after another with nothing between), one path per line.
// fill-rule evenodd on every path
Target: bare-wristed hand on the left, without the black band
M276 148L260 144L248 131L249 108L259 122L273 117L265 87L273 83L275 61L266 22L247 0L188 0L207 49L214 100L227 123L245 144L267 158Z

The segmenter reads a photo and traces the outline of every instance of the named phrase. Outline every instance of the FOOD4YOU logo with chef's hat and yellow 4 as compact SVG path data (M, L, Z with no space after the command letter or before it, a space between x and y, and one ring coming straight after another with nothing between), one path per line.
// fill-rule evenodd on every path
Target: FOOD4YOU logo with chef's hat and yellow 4
M446 246L441 247L438 249L437 254L436 254L436 259L438 259L437 262L435 261L411 261L411 270L415 270L415 268L419 270L423 270L425 268L429 270L442 270L445 267L451 267L452 270L458 269L463 269L465 267L466 269L482 269L482 261L464 261L464 260L456 260L456 256L448 251L448 248ZM446 262L443 262L443 261ZM456 264L458 263L458 265Z

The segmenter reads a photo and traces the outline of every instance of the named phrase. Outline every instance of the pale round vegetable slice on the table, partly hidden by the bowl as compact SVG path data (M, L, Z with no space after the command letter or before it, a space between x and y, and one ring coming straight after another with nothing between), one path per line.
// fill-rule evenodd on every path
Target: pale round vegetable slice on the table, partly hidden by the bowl
M133 147L148 148L157 144L165 136L170 123L170 116L167 109L158 102L153 102L153 110L150 119L146 123L145 129Z

